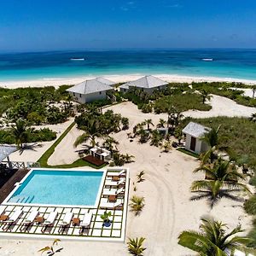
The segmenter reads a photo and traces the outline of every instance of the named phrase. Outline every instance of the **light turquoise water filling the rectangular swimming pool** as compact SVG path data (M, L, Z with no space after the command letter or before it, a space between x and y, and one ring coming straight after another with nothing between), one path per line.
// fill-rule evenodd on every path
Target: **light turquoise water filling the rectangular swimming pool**
M93 206L103 172L34 170L9 202Z

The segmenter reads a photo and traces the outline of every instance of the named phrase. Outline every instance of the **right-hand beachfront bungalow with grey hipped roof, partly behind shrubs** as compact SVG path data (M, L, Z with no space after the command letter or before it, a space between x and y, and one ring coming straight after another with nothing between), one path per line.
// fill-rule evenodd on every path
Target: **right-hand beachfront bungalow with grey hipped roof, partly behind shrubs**
M119 89L121 91L127 91L132 87L137 87L142 89L143 91L148 92L149 94L152 94L154 90L162 90L166 88L166 85L168 83L164 80L155 78L154 76L145 76L141 79L137 79L135 81L131 81L125 84L122 84L119 86Z

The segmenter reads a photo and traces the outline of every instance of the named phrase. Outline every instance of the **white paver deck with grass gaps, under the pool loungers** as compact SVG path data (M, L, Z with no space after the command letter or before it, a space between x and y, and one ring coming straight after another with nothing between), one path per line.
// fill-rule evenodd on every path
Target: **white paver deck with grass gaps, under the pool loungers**
M125 170L125 175L123 174L122 178L124 183L119 183L118 186L112 184L111 186L108 183L118 183L118 181L113 181L113 177L108 176L110 172L120 172ZM20 238L61 238L67 240L93 240L93 241L125 241L125 225L126 225L126 214L128 206L128 190L129 190L129 170L123 168L108 168L106 171L105 180L103 183L100 199L98 201L97 207L76 207L76 206L49 206L45 207L42 205L38 206L29 206L28 204L2 204L5 206L4 215L10 216L13 212L21 210L22 213L20 217L15 222L15 224L9 225L8 230L5 230L6 225L4 222L0 222L0 236L2 237L20 237ZM20 173L21 174L21 173ZM26 173L23 173L23 177ZM21 177L21 175L20 175ZM22 177L21 177L22 178ZM19 182L18 179L14 179L16 182ZM13 188L14 187L11 187ZM122 193L115 195L115 191L121 189ZM106 195L107 193L107 195ZM115 207L113 203L110 202L111 194L115 197ZM113 199L113 198L112 198ZM111 225L110 227L105 227L102 225L101 215L106 210L105 205L110 204L108 207L108 212L111 212ZM22 229L22 223L29 215L29 212L38 211L39 216L46 219L49 216L50 212L58 212L57 218L52 226L42 231L43 223L33 222L26 230ZM81 221L84 218L86 212L92 213L92 219L90 222L90 228L84 229L83 232L80 225L74 225L72 222L67 226L66 229L60 229L60 223L63 220L66 212L73 212L73 218L79 218Z

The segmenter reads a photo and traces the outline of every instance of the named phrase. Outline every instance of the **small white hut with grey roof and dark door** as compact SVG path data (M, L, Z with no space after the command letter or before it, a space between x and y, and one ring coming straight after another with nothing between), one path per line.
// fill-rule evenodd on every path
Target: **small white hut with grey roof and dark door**
M183 129L183 134L186 137L185 148L197 154L206 152L209 146L207 143L201 141L201 137L210 130L211 129L206 126L189 122L189 125Z

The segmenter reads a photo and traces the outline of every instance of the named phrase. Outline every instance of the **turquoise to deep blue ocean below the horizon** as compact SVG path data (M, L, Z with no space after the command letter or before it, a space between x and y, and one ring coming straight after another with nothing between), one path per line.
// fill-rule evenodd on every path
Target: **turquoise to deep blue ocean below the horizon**
M69 50L0 54L0 82L112 74L256 80L256 49Z

